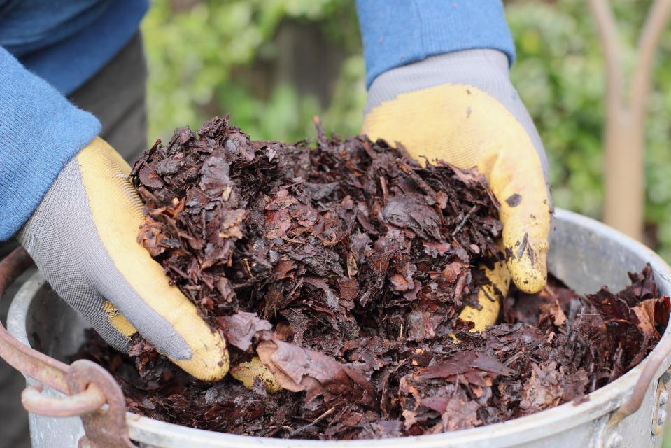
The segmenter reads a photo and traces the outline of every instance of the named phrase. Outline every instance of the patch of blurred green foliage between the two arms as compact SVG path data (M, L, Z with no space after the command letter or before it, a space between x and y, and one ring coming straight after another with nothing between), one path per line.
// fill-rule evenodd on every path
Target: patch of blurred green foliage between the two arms
M278 62L274 38L287 22L318 29L332 48L346 52L327 107L295 85L257 76ZM351 0L157 0L142 27L150 139L223 113L255 139L309 137L314 115L331 129L358 133L365 69Z

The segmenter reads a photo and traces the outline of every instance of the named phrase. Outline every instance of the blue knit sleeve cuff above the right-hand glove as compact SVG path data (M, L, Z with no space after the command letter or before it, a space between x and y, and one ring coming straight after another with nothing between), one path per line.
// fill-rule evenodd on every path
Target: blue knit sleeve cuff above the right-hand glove
M429 56L515 46L501 0L357 0L366 86L381 73Z

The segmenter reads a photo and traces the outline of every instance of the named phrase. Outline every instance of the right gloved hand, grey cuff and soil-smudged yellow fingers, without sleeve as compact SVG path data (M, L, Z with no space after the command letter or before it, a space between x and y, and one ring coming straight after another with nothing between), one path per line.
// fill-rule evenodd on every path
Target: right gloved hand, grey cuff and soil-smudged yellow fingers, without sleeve
M545 286L551 222L547 161L510 83L506 55L465 50L381 74L369 88L362 132L371 139L400 142L415 158L477 167L501 203L510 277L527 293ZM505 294L506 269L500 266L487 274ZM491 301L482 292L480 302ZM464 311L471 316L467 320L474 311ZM479 312L488 316L485 323L493 323L498 307ZM484 327L482 319L478 326Z

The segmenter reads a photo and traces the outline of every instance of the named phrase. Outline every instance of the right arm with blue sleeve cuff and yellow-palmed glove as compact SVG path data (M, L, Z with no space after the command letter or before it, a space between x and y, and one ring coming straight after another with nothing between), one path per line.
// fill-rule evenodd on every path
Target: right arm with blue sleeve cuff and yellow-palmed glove
M509 80L514 45L500 0L358 0L367 68L363 132L414 157L478 167L501 204L511 279L546 283L546 157Z

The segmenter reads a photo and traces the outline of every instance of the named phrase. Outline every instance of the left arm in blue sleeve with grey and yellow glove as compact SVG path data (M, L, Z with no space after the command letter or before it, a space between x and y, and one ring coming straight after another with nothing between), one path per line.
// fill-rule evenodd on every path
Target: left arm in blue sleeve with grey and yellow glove
M136 241L142 204L100 123L0 48L0 241L16 235L45 279L117 349L137 330L199 379L226 344Z

